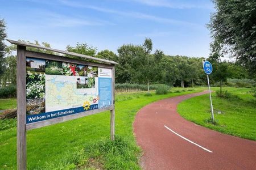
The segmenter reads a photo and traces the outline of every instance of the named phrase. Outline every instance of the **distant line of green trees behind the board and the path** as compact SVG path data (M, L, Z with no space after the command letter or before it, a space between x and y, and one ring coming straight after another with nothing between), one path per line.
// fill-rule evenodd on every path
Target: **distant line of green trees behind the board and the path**
M147 44L148 41L151 43L151 46ZM34 44L39 45L37 41L35 42ZM42 44L47 47L50 46L46 42ZM13 56L11 53L11 51L14 50L16 50L14 45L6 48L6 68L5 74L1 76L2 85L6 82L10 84L16 83L16 56ZM43 53L54 54L49 51L36 50ZM79 43L74 47L68 45L67 50L118 62L119 65L117 65L115 69L115 83L117 84L141 84L141 86L143 86L143 88L139 88L141 90L147 88L147 86L144 86L147 82L150 84L166 84L171 87L207 85L207 79L202 65L203 57L168 56L161 50L155 50L154 53L151 53L152 41L150 39L146 39L142 45L122 45L117 49L117 54L110 50L102 50L97 53L96 48ZM222 78L224 84L227 78L255 79L255 75L250 75L245 67L236 62L222 61L222 63L218 63L212 58L209 58L209 60L213 63L213 74L210 76L212 84L220 82L220 77L223 76L222 74L220 75L221 72L228 73ZM219 67L220 65L222 67ZM225 70L222 71L221 69L223 69L223 67Z

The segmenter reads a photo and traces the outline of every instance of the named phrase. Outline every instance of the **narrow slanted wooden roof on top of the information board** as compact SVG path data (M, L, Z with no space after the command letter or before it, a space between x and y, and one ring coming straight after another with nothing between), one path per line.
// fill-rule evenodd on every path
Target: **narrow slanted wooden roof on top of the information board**
M64 51L64 50L58 50L58 49L48 48L48 47L39 46L39 45L35 45L35 44L29 44L29 43L26 43L26 42L20 42L20 41L14 41L14 40L7 40L7 41L9 41L11 44L15 44L15 45L30 46L30 47L33 47L33 48L44 49L44 50L50 50L50 51L56 52L56 53L67 54L67 55L82 57L82 58L86 58L86 59L93 59L93 60L95 60L95 61L105 62L105 63L109 63L109 64L114 64L114 65L117 65L117 64L118 64L118 63L115 62L115 61L110 61L110 60L108 60L108 59L102 59L102 58L97 58L97 57L92 57L92 56L86 56L86 55L84 55L84 54L78 54L78 53L73 53L73 52L67 52L67 51Z

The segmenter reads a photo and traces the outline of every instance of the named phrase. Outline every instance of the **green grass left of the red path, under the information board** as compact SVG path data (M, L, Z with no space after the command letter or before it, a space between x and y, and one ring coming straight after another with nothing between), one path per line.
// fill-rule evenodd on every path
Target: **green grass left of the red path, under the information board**
M135 114L167 97L202 91L115 95L116 141L110 141L110 112L27 131L28 169L140 169L141 149L133 134ZM173 89L172 91L176 91ZM0 169L16 169L16 128L0 131Z

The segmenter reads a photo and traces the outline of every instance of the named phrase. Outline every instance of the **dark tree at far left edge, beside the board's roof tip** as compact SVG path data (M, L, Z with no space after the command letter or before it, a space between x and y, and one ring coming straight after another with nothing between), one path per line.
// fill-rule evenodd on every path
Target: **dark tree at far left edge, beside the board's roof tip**
M3 62L5 57L5 48L6 45L3 42L6 38L6 31L5 31L5 21L3 19L0 20L0 76L3 74L3 70L5 69Z

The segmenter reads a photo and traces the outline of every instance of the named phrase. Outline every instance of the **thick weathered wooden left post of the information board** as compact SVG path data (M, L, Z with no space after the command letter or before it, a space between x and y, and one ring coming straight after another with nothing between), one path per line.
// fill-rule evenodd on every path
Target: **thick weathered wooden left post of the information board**
M26 46L17 47L17 169L27 169Z

